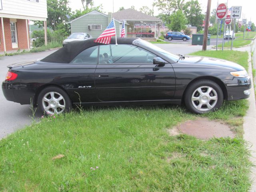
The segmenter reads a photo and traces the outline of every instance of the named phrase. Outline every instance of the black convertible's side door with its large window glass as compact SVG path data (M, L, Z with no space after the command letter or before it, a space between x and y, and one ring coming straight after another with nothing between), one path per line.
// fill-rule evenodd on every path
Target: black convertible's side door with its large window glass
M154 65L157 56L128 44L100 45L96 95L103 102L170 100L175 91L172 65Z

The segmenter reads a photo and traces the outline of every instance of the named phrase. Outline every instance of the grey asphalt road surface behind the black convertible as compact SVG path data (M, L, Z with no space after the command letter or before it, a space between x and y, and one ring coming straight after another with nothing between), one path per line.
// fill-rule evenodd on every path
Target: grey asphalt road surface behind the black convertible
M155 44L167 51L170 51L174 54L189 54L198 50L202 50L202 46L192 46L191 44ZM208 49L211 46L208 46ZM9 64L14 64L17 62L25 62L37 60L38 58L44 58L53 51L45 51L39 53L31 54L22 54L15 56L4 56L0 58L0 80L4 80L8 68L6 67ZM0 90L0 138L5 137L6 135L23 128L26 125L31 124L33 120L33 113L30 109L30 105L20 105L11 101L7 101L4 98L2 90ZM40 118L42 114L37 112L34 114L35 118Z

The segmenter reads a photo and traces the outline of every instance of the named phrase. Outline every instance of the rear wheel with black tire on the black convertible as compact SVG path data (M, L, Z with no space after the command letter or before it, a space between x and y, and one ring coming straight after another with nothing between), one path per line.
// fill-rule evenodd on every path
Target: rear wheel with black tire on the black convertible
M53 93L53 98L51 93ZM62 99L60 96L62 96ZM45 100L43 101L43 98L48 99L49 102ZM58 101L58 99L60 100ZM53 104L54 107L50 105L50 102L52 102L51 104ZM72 102L68 94L57 86L44 88L38 95L37 104L38 109L45 115L60 114L72 110ZM48 106L50 106L50 109L47 111L46 109ZM56 108L56 110L54 110L54 108Z

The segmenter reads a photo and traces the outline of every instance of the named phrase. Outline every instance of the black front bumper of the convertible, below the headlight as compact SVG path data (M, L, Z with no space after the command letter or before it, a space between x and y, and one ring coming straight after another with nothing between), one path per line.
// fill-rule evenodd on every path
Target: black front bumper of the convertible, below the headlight
M250 97L250 94L246 92L252 87L250 77L234 77L233 80L226 80L224 83L227 89L227 100L240 100Z

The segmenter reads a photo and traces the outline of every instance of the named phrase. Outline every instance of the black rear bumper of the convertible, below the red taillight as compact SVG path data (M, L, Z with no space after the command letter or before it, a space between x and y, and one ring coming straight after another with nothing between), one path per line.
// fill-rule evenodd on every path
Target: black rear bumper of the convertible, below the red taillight
M22 85L14 86L10 81L2 83L2 91L4 97L8 101L13 101L20 104L33 104L34 103L34 90L26 89Z

